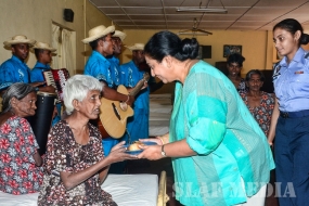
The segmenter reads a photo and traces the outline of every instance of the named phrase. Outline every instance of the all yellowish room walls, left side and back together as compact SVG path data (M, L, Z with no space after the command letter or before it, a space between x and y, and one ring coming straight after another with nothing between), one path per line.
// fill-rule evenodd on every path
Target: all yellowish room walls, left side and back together
M110 26L112 21L88 0L1 0L0 13L0 43L15 35L26 35L30 39L51 42L51 24L60 24L76 31L76 70L82 73L85 63L91 53L91 48L83 44L81 39L88 37L88 30L98 25ZM63 10L74 11L74 22L63 20ZM116 26L116 29L120 29ZM158 30L126 29L125 43L130 46L136 42L145 43ZM171 30L178 33L178 30ZM242 75L253 68L271 69L274 60L272 31L236 31L210 30L211 36L197 36L201 44L211 46L213 57L206 59L210 64L226 61L223 44L243 46L243 55L246 57ZM309 30L305 29L308 34ZM185 38L185 36L181 36ZM191 38L191 36L189 36ZM308 46L309 47L309 46ZM11 51L0 49L0 63L11 57ZM120 56L120 62L130 61L131 52L126 49ZM30 53L27 61L31 68L36 63L35 55Z

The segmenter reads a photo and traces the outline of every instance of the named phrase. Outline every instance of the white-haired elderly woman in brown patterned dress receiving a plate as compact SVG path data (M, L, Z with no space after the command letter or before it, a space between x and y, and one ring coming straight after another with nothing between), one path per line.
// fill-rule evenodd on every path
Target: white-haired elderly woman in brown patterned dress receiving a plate
M67 80L67 117L49 133L38 205L116 205L101 184L111 164L137 157L125 152L125 142L104 156L101 133L89 123L100 114L101 90L100 81L90 76L75 75Z

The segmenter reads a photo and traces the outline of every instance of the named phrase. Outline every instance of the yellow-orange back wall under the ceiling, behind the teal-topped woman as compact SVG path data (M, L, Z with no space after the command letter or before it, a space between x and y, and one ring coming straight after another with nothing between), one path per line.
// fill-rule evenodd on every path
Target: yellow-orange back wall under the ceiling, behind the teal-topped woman
M149 38L158 30L134 30L125 29L127 38L125 44L131 46L140 42L145 43ZM178 33L178 30L171 30ZM269 43L269 31L228 31L228 30L211 30L210 36L196 36L199 44L211 46L211 59L205 59L206 62L215 65L215 62L226 61L223 57L223 44L240 44L242 46L242 54L245 56L242 75L249 69L271 69L272 67L272 40ZM186 36L180 36L186 38ZM192 36L188 36L192 38ZM138 41L137 41L138 39ZM272 39L272 36L271 36ZM130 50L126 49L123 53L124 62L131 59Z

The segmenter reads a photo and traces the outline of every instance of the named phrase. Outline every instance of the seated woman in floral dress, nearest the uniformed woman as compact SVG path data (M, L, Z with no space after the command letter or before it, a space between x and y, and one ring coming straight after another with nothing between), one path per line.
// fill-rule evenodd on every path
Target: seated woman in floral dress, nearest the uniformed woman
M274 94L260 91L263 81L265 77L260 70L249 70L246 75L248 91L240 94L265 134L268 136L274 107Z

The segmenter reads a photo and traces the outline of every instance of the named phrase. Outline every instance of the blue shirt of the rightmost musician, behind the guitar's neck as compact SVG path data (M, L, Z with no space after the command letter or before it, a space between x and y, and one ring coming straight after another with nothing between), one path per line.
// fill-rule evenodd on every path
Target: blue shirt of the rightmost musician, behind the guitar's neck
M121 83L126 87L134 87L142 78L145 72L139 70L134 62L128 62L120 66ZM149 87L141 90L136 96L134 112L137 108L144 108L149 111L150 105L150 89Z

